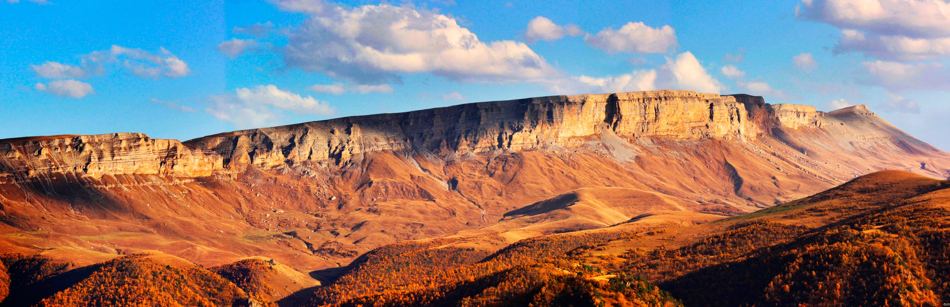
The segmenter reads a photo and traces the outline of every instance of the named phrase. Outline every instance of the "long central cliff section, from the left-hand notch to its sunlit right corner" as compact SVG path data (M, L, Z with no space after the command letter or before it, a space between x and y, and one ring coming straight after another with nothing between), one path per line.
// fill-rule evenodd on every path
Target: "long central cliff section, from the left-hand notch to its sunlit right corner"
M209 135L186 142L224 157L229 170L303 161L343 164L354 154L391 150L463 155L576 147L608 129L626 137L744 135L750 126L731 96L652 91L552 96L343 117Z

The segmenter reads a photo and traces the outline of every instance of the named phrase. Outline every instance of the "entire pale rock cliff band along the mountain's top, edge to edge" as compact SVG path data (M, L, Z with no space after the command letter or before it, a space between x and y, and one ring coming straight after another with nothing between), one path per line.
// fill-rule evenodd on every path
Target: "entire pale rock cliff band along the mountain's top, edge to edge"
M605 130L628 140L648 136L750 140L762 134L785 135L776 129L822 128L826 122L841 121L838 117L851 116L877 118L864 105L825 113L809 105L769 105L761 97L741 94L663 90L552 96L334 118L184 143L132 133L6 139L0 140L0 176L10 180L69 172L93 177L128 173L199 177L244 172L252 165L272 169L309 161L339 167L379 151L450 159L467 153L576 147ZM863 132L838 133L860 137ZM896 128L885 133L916 140Z

